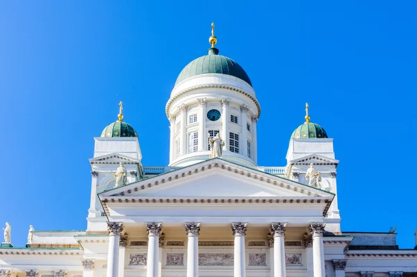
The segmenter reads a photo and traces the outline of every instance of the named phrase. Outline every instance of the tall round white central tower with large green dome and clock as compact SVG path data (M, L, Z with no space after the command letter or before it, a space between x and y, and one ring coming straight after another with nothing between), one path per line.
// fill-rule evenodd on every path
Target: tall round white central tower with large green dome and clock
M208 55L183 68L165 108L170 120L170 166L207 160L208 134L224 140L222 158L254 166L261 106L245 70L218 54L211 26Z

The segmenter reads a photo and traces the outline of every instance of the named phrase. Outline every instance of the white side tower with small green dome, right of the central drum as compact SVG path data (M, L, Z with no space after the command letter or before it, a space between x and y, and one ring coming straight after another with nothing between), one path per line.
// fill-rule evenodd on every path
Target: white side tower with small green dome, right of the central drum
M286 177L336 194L325 222L327 231L340 235L341 217L336 185L338 160L334 156L333 139L327 137L325 129L320 125L310 122L308 103L305 119L291 135L286 155Z

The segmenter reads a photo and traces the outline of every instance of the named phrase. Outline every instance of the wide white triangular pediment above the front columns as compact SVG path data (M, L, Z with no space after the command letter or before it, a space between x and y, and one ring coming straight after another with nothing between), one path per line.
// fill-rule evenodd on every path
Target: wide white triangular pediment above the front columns
M112 196L165 199L324 197L331 201L334 194L225 160L212 159L100 194L100 198Z

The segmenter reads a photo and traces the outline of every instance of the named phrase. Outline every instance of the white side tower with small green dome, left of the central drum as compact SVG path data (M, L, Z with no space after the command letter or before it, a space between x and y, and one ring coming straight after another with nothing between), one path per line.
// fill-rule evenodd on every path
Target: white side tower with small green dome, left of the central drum
M108 124L100 137L95 137L94 156L91 165L91 199L88 209L88 231L106 230L106 217L97 194L119 185L138 181L143 177L142 152L138 134L123 121L122 102L117 121ZM115 174L124 167L119 184ZM120 170L120 169L119 169Z

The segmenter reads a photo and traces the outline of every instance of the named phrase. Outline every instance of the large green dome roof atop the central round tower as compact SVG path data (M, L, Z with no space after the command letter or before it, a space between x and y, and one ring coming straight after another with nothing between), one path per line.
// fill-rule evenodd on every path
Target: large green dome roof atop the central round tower
M220 56L218 53L218 49L211 48L208 49L208 55L196 58L190 62L182 69L175 85L192 76L217 73L235 76L252 86L249 76L237 62L231 58Z

